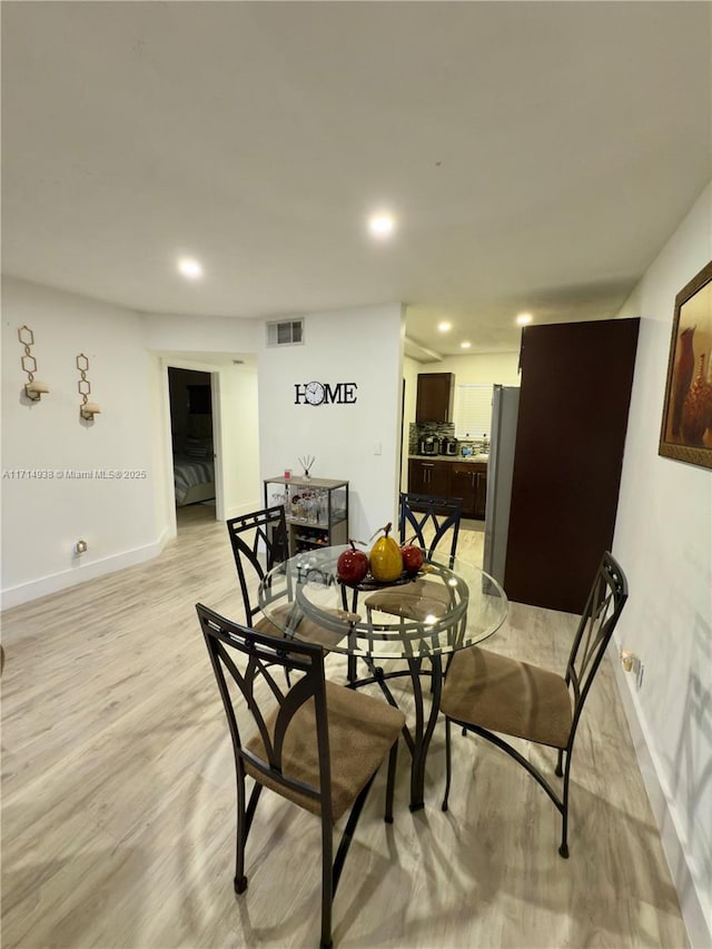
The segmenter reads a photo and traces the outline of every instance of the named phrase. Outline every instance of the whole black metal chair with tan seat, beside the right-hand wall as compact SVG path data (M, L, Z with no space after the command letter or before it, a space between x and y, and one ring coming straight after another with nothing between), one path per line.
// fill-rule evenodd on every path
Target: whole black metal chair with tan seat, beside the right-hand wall
M589 691L626 600L625 574L606 552L596 571L563 676L478 646L454 655L441 698L447 769L444 811L449 795L451 723L454 722L463 732L475 732L501 748L541 784L562 814L558 852L568 857L568 778L574 739ZM495 732L558 749L555 773L564 779L561 795L538 769ZM564 755L566 762L562 770Z

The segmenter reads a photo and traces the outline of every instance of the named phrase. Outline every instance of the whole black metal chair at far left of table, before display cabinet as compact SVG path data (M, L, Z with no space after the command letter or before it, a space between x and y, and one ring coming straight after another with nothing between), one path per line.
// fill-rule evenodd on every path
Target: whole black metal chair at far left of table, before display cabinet
M270 636L284 635L280 629L267 616L259 615L265 603L271 602L269 593L264 593L263 599L257 604L254 604L253 597L265 574L289 556L284 506L277 504L274 507L233 517L227 522L227 532L233 545L235 566L245 604L245 624ZM287 625L286 621L293 615L294 611L294 603L289 601L288 593L289 587L287 585L278 594L285 599L285 603L274 611L274 615L285 619L285 625ZM275 599L277 597L275 596ZM324 649L328 649L329 645L334 645L335 641L340 639L336 633L316 625L304 616L297 617L296 627L300 640L319 643Z

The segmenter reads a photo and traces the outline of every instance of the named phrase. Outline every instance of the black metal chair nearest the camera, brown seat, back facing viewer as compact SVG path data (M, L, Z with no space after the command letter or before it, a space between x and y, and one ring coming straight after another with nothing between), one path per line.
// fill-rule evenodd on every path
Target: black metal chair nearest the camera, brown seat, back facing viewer
M235 752L235 891L247 889L245 848L266 787L322 819L322 947L329 947L332 903L342 868L368 790L386 758L385 820L393 822L398 735L405 715L380 699L326 681L318 645L289 642L287 652L281 639L230 623L201 604L196 609ZM275 665L298 673L286 692L271 674ZM255 780L249 802L246 775ZM333 860L334 823L347 811Z

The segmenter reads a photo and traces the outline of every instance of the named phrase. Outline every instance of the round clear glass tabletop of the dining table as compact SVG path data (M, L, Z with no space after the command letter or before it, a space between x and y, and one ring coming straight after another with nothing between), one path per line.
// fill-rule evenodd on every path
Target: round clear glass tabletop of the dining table
M350 586L336 571L343 551L305 551L265 575L260 607L285 635L353 656L413 660L482 642L506 617L500 584L466 561L433 561L415 577L379 584L368 576Z

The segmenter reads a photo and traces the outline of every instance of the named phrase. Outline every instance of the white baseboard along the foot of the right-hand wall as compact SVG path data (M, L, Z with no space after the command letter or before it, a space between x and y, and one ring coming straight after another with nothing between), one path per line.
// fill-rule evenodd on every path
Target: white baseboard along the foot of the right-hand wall
M616 650L615 654L613 649ZM637 698L632 691L634 678L623 671L617 659L619 645L612 644L611 658L616 684L621 694L623 710L633 739L637 763L643 775L643 783L653 810L653 815L660 832L663 851L672 874L673 883L680 900L680 910L688 930L688 939L692 949L710 949L712 947L712 920L709 920L698 889L690 861L685 852L684 836L680 833L679 820L674 801L665 792L661 781L651 743L641 715Z

